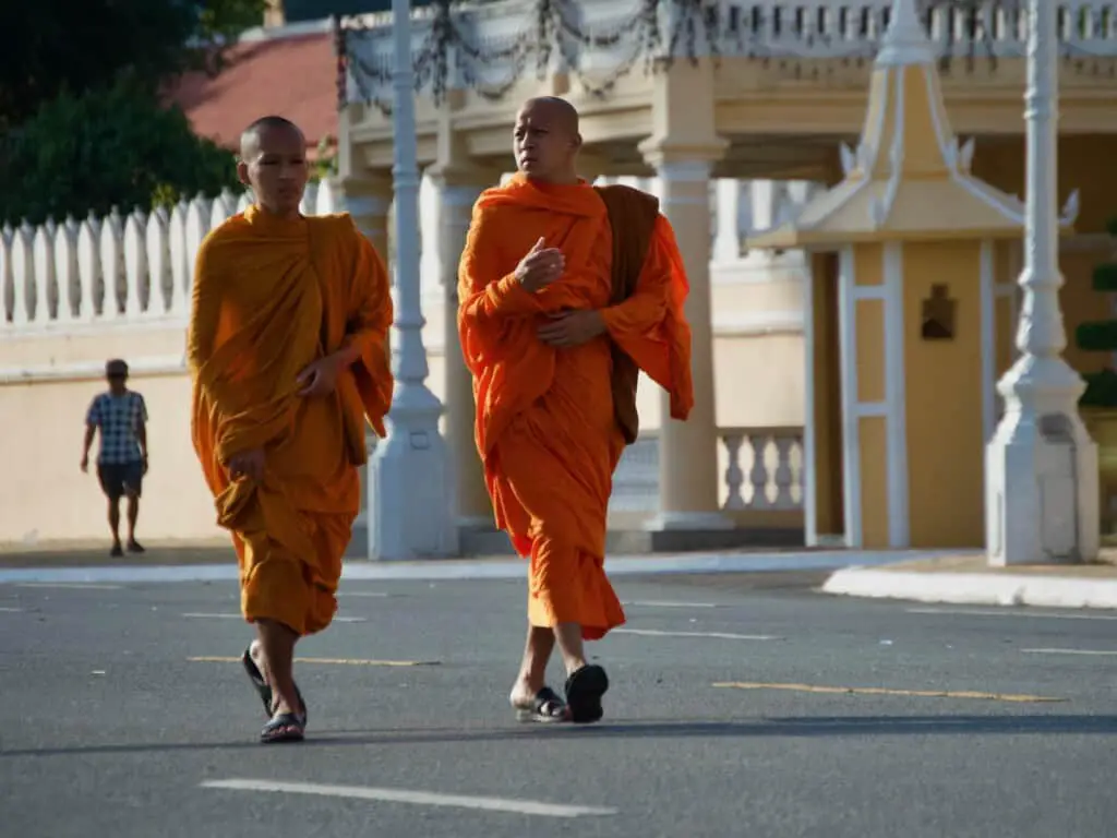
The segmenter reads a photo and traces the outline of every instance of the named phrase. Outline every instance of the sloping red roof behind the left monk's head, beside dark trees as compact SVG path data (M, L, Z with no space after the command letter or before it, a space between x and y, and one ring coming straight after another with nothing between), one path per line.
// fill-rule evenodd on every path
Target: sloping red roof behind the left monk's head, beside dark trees
M194 132L236 147L240 132L268 114L285 116L314 147L337 137L337 60L333 36L300 35L241 42L216 78L183 76L169 98L190 117Z

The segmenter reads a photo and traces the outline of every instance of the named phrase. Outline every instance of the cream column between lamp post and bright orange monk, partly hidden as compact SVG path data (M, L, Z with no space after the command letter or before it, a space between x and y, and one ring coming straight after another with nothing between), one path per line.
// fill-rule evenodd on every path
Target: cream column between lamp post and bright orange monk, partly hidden
M458 264L469 231L474 203L481 191L496 184L484 172L433 166L427 172L433 187L438 227L435 230L439 282L445 305L446 436L454 472L455 508L460 528L491 528L493 505L485 488L485 473L475 441L474 380L466 369L458 336Z

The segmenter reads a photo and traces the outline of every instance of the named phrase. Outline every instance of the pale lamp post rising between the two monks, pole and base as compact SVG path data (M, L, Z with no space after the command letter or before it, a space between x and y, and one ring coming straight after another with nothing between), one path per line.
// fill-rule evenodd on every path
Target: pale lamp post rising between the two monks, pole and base
M458 552L449 453L438 422L442 404L428 388L419 279L419 166L416 140L411 8L392 0L395 134L395 398L388 439L376 446L370 493L370 559L419 559Z

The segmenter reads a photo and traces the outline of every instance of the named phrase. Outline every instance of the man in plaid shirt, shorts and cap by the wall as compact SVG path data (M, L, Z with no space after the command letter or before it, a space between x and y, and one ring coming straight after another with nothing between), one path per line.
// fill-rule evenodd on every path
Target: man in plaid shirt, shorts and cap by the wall
M85 448L82 470L89 468L89 447L101 430L97 455L97 477L108 498L108 526L113 531L111 555L124 555L121 547L121 497L128 499L128 552L142 553L136 541L136 518L143 476L147 474L147 406L143 397L128 390L128 365L118 359L105 364L108 392L101 393L89 404L85 419Z

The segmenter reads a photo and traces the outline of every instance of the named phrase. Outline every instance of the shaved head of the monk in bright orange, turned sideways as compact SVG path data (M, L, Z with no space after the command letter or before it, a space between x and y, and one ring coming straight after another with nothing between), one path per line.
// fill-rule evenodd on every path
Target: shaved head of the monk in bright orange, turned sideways
M557 96L528 99L516 115L516 165L529 180L577 183L577 111Z

